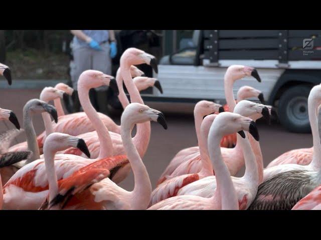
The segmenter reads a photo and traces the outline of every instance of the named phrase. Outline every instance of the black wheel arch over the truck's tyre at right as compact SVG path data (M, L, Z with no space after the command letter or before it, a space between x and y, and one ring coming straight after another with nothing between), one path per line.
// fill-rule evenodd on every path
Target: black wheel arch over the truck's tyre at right
M268 104L274 105L275 100L279 99L290 86L308 84L312 87L319 83L321 83L321 70L286 69L274 85Z

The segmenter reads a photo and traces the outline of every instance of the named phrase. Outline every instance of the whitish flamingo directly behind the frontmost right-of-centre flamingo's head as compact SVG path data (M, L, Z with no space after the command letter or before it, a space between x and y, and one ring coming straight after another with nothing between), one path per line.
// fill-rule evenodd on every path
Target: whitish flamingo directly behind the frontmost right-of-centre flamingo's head
M248 100L239 101L234 108L234 112L242 114L244 116L253 116L254 114L260 114L259 117L263 115L265 118L269 118L269 112L265 105L254 103ZM250 137L252 136L248 135L247 138L243 139L239 135L237 136L237 140L240 142L240 146L242 148L242 151L244 152L246 166L245 174L242 177L232 176L232 181L235 186L237 198L239 201L239 209L246 209L254 199L257 187L260 183L260 180L262 180L263 174L262 158L257 157L255 151L252 150L251 145L254 145L254 140ZM258 142L258 137L255 138L255 142ZM203 157L205 159L208 159L208 150L206 148L204 148L203 154ZM208 161L209 163L207 163L207 165L211 165L209 159ZM161 187L163 184L159 185L159 187ZM192 183L186 184L183 187L176 186L176 188L176 195L198 195L202 197L212 197L216 188L216 178L215 176L213 176L213 174L209 174L206 177L202 177L202 179L200 177L200 180L196 180Z

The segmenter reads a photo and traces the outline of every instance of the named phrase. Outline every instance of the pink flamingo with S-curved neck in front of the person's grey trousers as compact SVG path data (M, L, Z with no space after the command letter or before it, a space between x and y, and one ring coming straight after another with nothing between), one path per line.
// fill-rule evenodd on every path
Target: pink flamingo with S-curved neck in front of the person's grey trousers
M88 117L97 128L99 140L102 142L102 156L113 155L112 141L107 128L98 117L97 112L89 101L89 89L98 87L101 84L109 84L113 78L100 71L87 70L79 78L78 91L82 106ZM85 100L86 99L86 100ZM86 152L90 156L89 152ZM55 167L58 179L66 178L79 168L95 162L97 159L87 159L81 156L70 154L58 154L55 157ZM114 178L117 177L116 171L122 164L128 165L126 156L113 158L103 158L110 170L114 169ZM102 161L100 160L100 162ZM117 167L116 167L117 166ZM45 172L44 159L35 160L19 169L4 186L5 208L9 209L38 209L45 200L48 190L48 177ZM28 196L28 200L21 201L22 197Z

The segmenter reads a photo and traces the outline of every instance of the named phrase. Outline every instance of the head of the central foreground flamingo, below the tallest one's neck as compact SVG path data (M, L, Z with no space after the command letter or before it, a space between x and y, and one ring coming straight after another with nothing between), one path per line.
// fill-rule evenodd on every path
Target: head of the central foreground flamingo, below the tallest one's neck
M126 106L120 121L122 127L129 126L130 129L132 129L134 124L145 121L156 121L167 129L167 123L163 112L137 102L130 103Z

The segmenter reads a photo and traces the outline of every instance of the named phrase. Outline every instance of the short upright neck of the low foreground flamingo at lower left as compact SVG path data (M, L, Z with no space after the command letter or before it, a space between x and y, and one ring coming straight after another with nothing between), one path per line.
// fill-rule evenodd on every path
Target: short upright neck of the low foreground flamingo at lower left
M58 194L58 179L54 162L55 154L56 151L44 147L45 166L49 183L49 202Z

